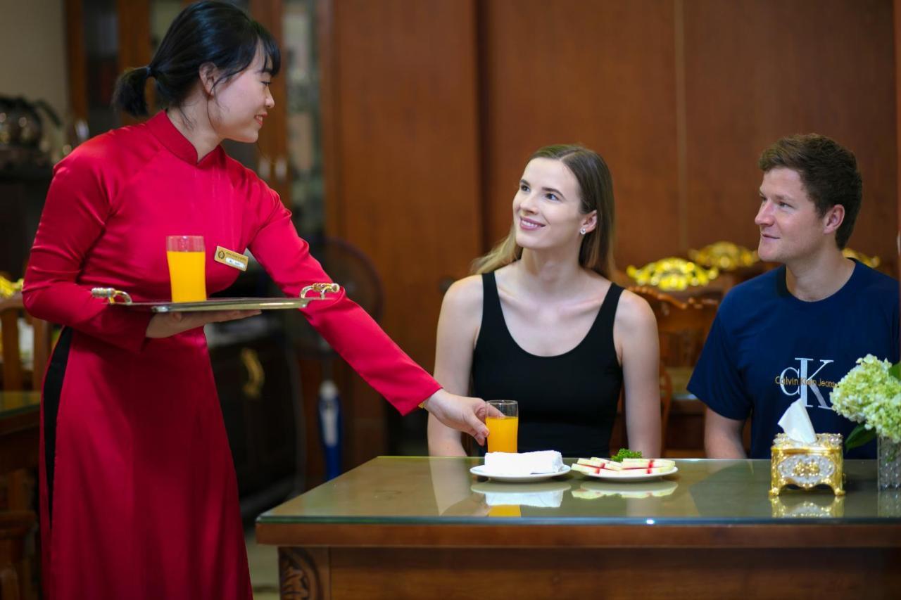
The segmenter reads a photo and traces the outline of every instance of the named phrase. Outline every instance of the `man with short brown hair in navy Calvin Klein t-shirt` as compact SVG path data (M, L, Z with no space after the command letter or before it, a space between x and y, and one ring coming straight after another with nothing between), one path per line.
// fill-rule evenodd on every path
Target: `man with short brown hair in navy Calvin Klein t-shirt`
M860 211L851 151L822 135L783 138L759 166L760 259L783 266L735 286L723 300L688 390L707 405L705 450L769 459L779 417L804 400L816 432L846 438L855 423L835 413L833 387L866 354L898 360L898 284L842 256ZM849 458L875 458L876 445Z

